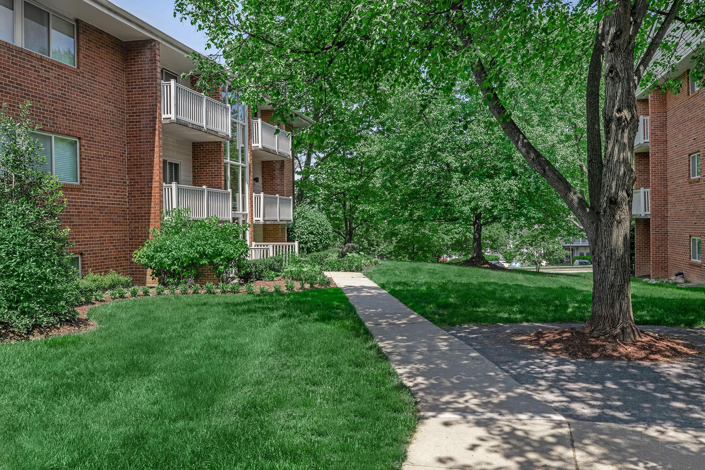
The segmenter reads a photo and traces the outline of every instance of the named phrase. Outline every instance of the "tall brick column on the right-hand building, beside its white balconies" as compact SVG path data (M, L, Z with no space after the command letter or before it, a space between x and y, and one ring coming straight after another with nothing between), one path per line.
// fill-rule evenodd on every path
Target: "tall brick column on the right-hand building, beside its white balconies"
M668 277L668 137L666 94L649 95L649 185L651 187L651 276Z

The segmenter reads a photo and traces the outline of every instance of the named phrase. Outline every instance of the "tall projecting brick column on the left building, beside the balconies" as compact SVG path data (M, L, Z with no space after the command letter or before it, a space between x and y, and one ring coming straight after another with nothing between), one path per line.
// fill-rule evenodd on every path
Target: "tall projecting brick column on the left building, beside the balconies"
M159 42L125 43L125 124L127 137L128 252L149 238L162 210L161 62ZM151 277L129 262L133 282Z

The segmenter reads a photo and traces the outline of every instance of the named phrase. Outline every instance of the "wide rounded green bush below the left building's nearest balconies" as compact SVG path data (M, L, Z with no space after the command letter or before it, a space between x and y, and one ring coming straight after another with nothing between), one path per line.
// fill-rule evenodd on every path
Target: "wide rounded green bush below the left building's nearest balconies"
M162 282L192 279L200 268L211 266L221 278L249 251L241 237L246 225L221 223L217 217L190 218L188 209L164 214L152 238L133 254L133 261L152 270Z

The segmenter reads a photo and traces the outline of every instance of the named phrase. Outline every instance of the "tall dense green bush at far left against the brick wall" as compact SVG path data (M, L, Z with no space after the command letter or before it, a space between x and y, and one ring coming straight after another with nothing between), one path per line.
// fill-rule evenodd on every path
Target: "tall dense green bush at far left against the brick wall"
M0 112L0 327L20 331L74 318L78 292L61 223L66 200L59 179L37 169L46 159L28 108L17 122L5 105Z

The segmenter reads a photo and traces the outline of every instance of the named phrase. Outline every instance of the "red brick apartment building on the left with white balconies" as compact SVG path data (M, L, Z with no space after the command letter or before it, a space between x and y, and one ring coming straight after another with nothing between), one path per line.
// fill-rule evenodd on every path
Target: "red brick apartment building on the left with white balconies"
M82 272L147 283L132 253L174 206L252 223L251 256L295 249L293 128L275 134L271 108L231 105L227 87L195 90L190 52L106 0L0 0L0 103L32 103Z

